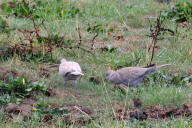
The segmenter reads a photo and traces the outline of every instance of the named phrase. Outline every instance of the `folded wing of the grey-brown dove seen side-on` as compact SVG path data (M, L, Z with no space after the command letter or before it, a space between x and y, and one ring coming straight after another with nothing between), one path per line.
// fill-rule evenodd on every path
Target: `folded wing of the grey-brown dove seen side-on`
M117 70L119 74L119 79L125 85L136 85L140 83L144 76L149 72L149 68L140 68L140 67L126 67Z

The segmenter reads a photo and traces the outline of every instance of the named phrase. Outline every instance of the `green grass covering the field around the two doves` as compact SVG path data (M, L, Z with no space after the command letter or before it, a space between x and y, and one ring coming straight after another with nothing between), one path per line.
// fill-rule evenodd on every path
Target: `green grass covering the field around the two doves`
M1 1L0 3L7 2ZM32 2L32 0L30 0ZM175 4L172 1L171 4ZM129 88L126 92L114 89L113 85L104 80L104 74L108 67L118 69L125 66L144 66L149 60L151 54L145 48L150 45L151 39L145 35L149 33L149 23L144 17L158 13L170 5L159 4L156 0L44 0L37 5L35 11L45 20L45 29L40 32L42 35L58 34L64 36L65 41L78 43L79 36L77 26L80 28L82 44L89 45L96 33L95 47L103 47L106 44L113 44L121 50L113 52L100 52L96 50L94 55L81 49L60 49L53 50L53 55L57 62L61 58L79 62L85 76L82 78L77 88L63 86L63 79L58 75L57 70L50 71L49 78L41 78L39 70L41 67L47 67L47 63L23 62L20 57L15 56L8 60L1 61L3 67L16 68L18 70L32 74L36 79L43 80L47 86L64 90L66 93L45 97L38 96L38 99L45 104L64 106L68 104L78 104L89 106L98 117L96 120L85 124L86 127L191 127L190 119L185 117L167 119L167 120L146 120L146 121L115 121L112 120L113 109L118 105L124 105L127 108L133 107L132 99L139 98L143 102L143 107L150 105L180 106L191 102L191 83L173 82L170 78L174 71L177 71L179 77L192 71L192 44L191 30L178 27L178 33L175 36L164 35L166 39L160 40L158 45L160 49L156 50L154 63L171 63L172 66L161 69L158 73L151 74L146 81L137 87ZM6 18L6 13L0 11L0 16L6 19L10 28L32 29L33 24L27 18L17 18L10 16ZM154 20L153 18L150 18ZM40 23L40 20L38 21ZM101 27L96 31L88 32L94 26ZM176 24L172 21L166 21L165 26L175 30ZM125 40L115 40L108 35L108 31L121 34ZM16 30L11 31L9 40L18 42L21 34ZM139 37L133 39L133 37ZM142 39L140 38L142 37ZM0 34L0 46L6 41L6 33ZM89 82L89 76L98 76L101 78L100 84ZM167 76L161 78L161 76ZM153 78L157 77L157 80ZM32 115L31 120L23 121L24 116L19 115L13 119L5 120L5 111L2 107L0 111L1 127L43 127L44 123L39 122L37 115ZM2 118L2 119L1 119ZM53 120L56 127L66 127L62 116L54 116ZM69 127L80 127L80 124L72 124ZM46 127L53 127L46 125Z

